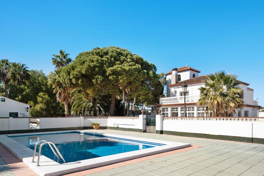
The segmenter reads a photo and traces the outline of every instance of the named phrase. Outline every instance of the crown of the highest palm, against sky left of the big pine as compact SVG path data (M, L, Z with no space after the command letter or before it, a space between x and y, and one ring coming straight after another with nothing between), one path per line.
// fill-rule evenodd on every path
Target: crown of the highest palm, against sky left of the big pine
M69 65L72 62L71 58L68 58L69 53L65 53L64 50L60 50L59 54L53 54L54 58L51 58L51 62L55 65L55 68L61 68L66 65Z

